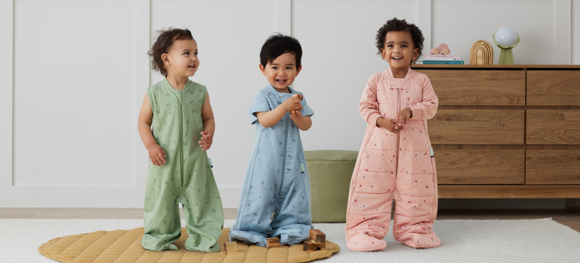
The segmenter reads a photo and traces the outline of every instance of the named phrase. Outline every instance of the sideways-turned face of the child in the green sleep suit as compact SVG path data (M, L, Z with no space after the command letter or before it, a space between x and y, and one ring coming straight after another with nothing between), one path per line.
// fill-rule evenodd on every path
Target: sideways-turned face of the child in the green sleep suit
M161 55L167 75L191 77L200 67L197 58L197 42L193 39L178 40L167 53Z

